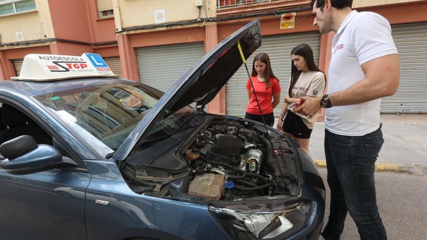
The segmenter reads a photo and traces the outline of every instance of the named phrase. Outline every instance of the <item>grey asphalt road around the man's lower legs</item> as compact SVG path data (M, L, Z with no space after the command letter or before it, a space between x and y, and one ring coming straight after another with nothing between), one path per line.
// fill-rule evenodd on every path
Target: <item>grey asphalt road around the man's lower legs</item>
M326 169L319 168L327 189L325 224L330 192ZM389 240L427 240L427 177L377 172L377 203ZM356 224L347 214L342 240L360 239Z

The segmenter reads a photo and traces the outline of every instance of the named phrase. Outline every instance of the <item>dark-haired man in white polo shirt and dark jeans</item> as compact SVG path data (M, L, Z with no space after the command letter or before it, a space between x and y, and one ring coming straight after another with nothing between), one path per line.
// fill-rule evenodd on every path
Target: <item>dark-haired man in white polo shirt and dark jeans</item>
M375 192L375 161L384 142L381 97L399 85L397 49L390 23L372 12L351 10L352 0L311 0L314 26L336 32L328 69L328 94L306 97L294 111L312 116L325 108L325 156L331 191L326 240L340 238L347 211L362 240L383 240Z

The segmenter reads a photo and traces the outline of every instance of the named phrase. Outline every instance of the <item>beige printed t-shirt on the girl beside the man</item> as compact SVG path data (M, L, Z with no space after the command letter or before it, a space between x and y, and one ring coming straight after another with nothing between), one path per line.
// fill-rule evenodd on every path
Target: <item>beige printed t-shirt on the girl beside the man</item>
M325 75L323 75L322 72L317 71L310 71L308 73L301 72L301 75L299 75L298 80L296 81L294 88L292 90L292 96L291 98L300 98L302 96L323 96L323 91L325 90ZM289 90L288 86L288 90ZM286 91L289 92L289 91ZM288 105L288 110L293 111L295 108L295 105L291 107L291 104ZM305 125L307 125L307 128L313 129L314 128L314 122L317 118L317 113L314 114L312 117L304 116L299 113L296 113L296 115L300 116L302 118L302 121Z

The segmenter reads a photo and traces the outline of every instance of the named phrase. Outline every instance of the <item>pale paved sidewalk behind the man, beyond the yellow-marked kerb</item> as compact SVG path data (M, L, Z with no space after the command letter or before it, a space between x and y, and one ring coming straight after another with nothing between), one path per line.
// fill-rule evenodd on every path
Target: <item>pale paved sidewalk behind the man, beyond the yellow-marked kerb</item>
M427 166L427 114L381 114L381 122L384 144L377 163ZM325 124L316 122L310 139L314 160L325 160L324 136Z

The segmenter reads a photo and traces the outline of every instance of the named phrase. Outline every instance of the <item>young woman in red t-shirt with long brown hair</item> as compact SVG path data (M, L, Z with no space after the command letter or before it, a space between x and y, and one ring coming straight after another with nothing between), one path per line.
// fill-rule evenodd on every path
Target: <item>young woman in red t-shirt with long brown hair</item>
M280 85L279 80L274 76L271 69L270 59L266 53L258 53L252 64L252 83L255 88L255 93L260 102L261 111L265 124L273 126L274 114L273 109L280 102ZM260 109L258 108L257 101L253 94L253 89L250 81L246 83L247 96L249 97L249 104L246 108L246 119L263 122Z

